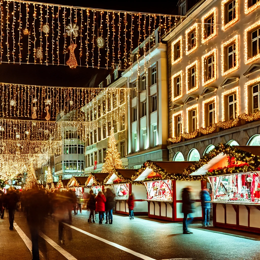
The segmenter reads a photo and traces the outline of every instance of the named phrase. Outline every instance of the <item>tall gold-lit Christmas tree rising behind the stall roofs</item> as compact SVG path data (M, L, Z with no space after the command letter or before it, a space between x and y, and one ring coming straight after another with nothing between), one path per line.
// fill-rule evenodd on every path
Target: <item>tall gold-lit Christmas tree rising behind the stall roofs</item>
M114 128L110 130L110 137L107 143L107 153L105 162L102 166L102 172L111 173L113 169L122 169L122 161L120 159L120 154L116 146L116 140L114 137Z

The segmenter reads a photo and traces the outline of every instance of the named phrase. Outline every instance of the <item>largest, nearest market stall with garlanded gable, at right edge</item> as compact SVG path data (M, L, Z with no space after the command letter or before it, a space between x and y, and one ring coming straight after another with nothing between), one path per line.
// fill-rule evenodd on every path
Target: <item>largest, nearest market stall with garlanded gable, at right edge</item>
M260 149L227 146L215 149L184 173L207 177L212 188L213 225L260 233Z

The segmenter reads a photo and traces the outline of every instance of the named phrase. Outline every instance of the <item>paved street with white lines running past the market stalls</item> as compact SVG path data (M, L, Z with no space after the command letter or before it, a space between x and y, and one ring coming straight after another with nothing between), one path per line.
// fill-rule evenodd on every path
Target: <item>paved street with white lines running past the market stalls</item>
M25 242L30 233L21 212L16 212L17 230L10 231L8 218L0 220L1 259L31 259ZM46 219L44 235L39 239L41 259L259 259L260 236L215 228L191 226L191 235L183 235L181 223L167 223L114 215L112 225L88 224L87 211L73 215L73 240L58 239L57 222ZM213 231L212 231L213 229ZM24 232L26 236L22 234ZM235 234L234 234L235 233ZM29 246L30 247L30 246Z

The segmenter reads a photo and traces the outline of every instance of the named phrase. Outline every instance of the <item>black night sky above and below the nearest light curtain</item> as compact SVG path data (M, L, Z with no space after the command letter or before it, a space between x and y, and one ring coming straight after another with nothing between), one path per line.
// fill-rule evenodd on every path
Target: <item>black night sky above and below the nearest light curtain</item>
M49 4L64 4L82 6L97 9L109 9L119 11L150 12L160 14L176 14L177 2L172 1L163 5L147 1L65 1L48 0L42 1ZM88 82L93 75L98 74L100 82L105 79L107 70L77 67L70 69L68 66L34 65L34 64L7 64L2 63L0 70L0 82L29 84L40 86L64 86L64 87L88 87ZM112 72L112 71L111 71ZM99 80L98 80L99 81Z

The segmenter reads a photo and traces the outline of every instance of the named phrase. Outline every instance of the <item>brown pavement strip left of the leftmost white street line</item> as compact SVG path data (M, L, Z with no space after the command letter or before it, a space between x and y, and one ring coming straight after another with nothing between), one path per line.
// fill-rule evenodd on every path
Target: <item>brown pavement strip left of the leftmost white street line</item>
M3 260L29 260L32 258L29 249L16 230L9 230L9 221L6 213L4 214L4 218L0 219L0 248L0 259Z

